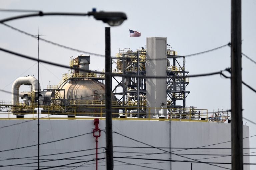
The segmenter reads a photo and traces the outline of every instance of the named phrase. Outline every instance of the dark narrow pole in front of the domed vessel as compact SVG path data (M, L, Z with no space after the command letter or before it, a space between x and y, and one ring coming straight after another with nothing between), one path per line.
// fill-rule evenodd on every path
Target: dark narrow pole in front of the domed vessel
M106 166L113 170L113 140L111 111L111 57L110 57L110 27L105 27L105 96L106 96Z

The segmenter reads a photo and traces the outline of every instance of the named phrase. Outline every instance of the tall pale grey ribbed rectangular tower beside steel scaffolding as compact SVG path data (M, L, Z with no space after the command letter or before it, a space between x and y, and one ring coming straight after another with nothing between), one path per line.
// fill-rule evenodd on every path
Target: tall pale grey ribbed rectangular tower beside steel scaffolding
M166 38L147 37L146 44L147 76L166 76L166 60L157 60L166 58ZM166 79L147 79L147 107L160 108L161 102L166 103L166 100ZM151 111L153 114L158 113L156 109Z

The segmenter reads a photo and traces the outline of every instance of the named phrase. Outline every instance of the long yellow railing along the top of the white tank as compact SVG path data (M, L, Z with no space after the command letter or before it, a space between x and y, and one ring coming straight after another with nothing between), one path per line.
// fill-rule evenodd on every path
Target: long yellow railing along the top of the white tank
M40 106L41 107L41 106ZM31 112L28 113L21 113L24 115L22 119L34 119L36 118L35 115L37 114L34 111L33 107L31 108ZM68 109L63 110L52 110L51 106L42 106L44 110L42 110L41 119L94 119L95 117L99 117L100 119L105 119L105 106L94 106L94 107L84 107L88 111L87 112L77 112L77 110L81 109L81 107L67 107ZM160 114L158 111L162 108L143 108L140 107L140 111L138 113L137 108L134 107L112 107L112 119L117 120L164 120L164 121L204 121L207 122L208 117L208 110L206 109L176 109L176 108L163 108L164 109L164 116L163 118L159 118ZM59 111L58 113L56 113ZM157 112L157 113L156 113ZM167 114L166 114L167 113ZM1 114L8 114L4 118ZM17 113L19 114L19 113ZM32 117L26 117L27 114L32 114ZM54 116L58 115L58 116ZM74 115L73 118L67 117L60 117L59 115ZM79 116L79 117L77 117ZM87 116L87 117L82 117ZM14 118L12 113L0 113L0 120L1 119L21 119L21 118ZM209 119L210 120L210 119Z

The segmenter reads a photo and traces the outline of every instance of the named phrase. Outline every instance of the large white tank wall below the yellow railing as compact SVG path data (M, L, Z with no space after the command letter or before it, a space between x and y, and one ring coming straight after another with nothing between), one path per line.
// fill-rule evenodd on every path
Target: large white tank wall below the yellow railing
M16 123L21 123L27 120L1 120L0 127L7 125L12 125ZM134 155L144 155L137 156L137 158L148 158L148 159L164 159L168 160L170 155L165 154L150 154L150 153L162 153L169 152L169 149L163 148L165 151L156 149L156 148L144 148L151 145L153 147L169 147L169 125L168 121L136 121L136 120L113 120L113 131L128 136L132 139L121 136L120 134L113 134L113 150L114 157L124 157L124 156L133 156L130 158L136 158ZM206 122L180 122L172 121L171 122L171 147L200 147L210 144L216 144L221 142L230 141L230 132L231 124L223 123L206 123ZM99 123L100 129L104 130L105 120L100 120ZM76 135L81 135L85 133L92 132L94 128L93 120L40 120L40 143L50 142L54 140L64 139ZM249 127L243 126L243 136L249 136ZM0 129L0 160L6 158L22 158L35 156L32 158L26 159L10 159L5 161L0 161L0 165L14 165L19 163L29 163L35 162L33 164L19 165L19 166L8 166L1 167L1 170L32 170L37 169L37 146L16 149L11 151L4 151L13 148L19 148L29 145L37 144L37 120L24 122L21 124L5 127ZM102 131L101 137L99 137L98 147L101 148L98 150L98 158L104 158L103 148L105 147L105 133ZM140 142L139 142L140 141ZM145 144L143 144L143 143ZM146 145L148 144L148 145ZM68 164L72 162L80 162L91 160L95 158L95 155L90 155L95 153L95 138L92 134L83 135L80 137L75 137L71 139L61 140L58 142L52 142L49 144L40 145L40 155L49 155L51 156L42 156L41 161L47 161L45 159L64 159L69 158L69 160L58 160L50 161L45 163L40 163L40 166L43 168L45 166L59 166L63 164ZM121 147L117 147L121 146ZM132 148L126 148L126 147ZM134 148L133 148L134 147ZM231 143L223 143L218 145L209 146L211 148L230 148ZM244 147L249 147L249 138L244 139ZM73 152L86 149L82 152ZM229 149L190 149L184 151L176 151L177 149L172 149L173 153L177 154L231 154ZM69 154L59 154L63 152L72 152ZM122 152L122 153L121 153ZM129 152L129 153L128 153ZM132 153L137 152L137 153ZM248 153L249 149L244 149L244 153ZM84 157L77 157L82 155L88 155ZM211 158L211 159L202 159L209 157L218 157L218 156L206 156L206 155L182 155L188 158L180 157L177 155L172 155L172 160L190 160L190 159L200 159L202 162L231 162L231 156ZM71 158L73 157L73 158ZM74 159L74 160L70 160ZM81 160L83 159L83 160ZM123 159L123 158L114 158L114 169L140 169L146 170L146 167L153 167L159 169L169 169L170 163L167 161L154 161L154 160L139 160L139 159ZM138 164L136 165L127 165L129 164ZM160 163L165 162L165 163ZM67 166L79 166L85 162L80 162L77 164L71 164ZM98 161L98 169L105 169L105 159ZM244 156L244 163L249 163L249 157ZM217 164L219 166L228 167L230 165ZM21 167L26 166L26 167ZM142 167L146 166L146 167ZM191 163L185 162L172 162L172 169L190 169ZM70 169L72 169L70 167ZM74 167L73 167L74 168ZM55 168L57 169L57 168ZM95 169L95 161L90 161L85 163L83 166L76 168L77 170ZM212 165L203 164L203 163L193 163L193 169L208 169L208 170L219 170L223 168L218 168ZM245 170L249 169L249 166L244 166Z

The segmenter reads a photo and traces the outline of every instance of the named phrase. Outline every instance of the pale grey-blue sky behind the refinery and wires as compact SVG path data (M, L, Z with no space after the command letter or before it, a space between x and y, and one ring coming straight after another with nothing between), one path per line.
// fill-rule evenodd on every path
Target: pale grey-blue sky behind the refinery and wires
M139 3L138 3L139 2ZM111 27L111 56L119 50L133 51L146 45L146 37L166 37L167 43L178 55L189 55L213 49L230 42L230 0L1 0L1 8L41 10L43 12L121 11L128 19L121 26ZM256 60L254 50L256 40L256 1L242 1L242 52ZM26 13L0 11L0 19ZM68 47L104 55L105 27L107 24L93 17L44 16L31 17L6 22L15 28ZM141 32L141 37L130 37L129 28ZM37 39L21 34L0 24L0 47L37 58ZM130 42L130 43L129 43ZM81 53L64 49L46 42L39 42L39 57L43 60L69 65L71 56ZM85 54L86 55L86 54ZM210 73L230 67L230 47L186 58L186 71L189 74ZM37 62L20 58L0 51L0 89L11 91L14 80L21 76L37 75ZM68 69L39 64L39 82L57 85ZM91 70L104 69L104 57L91 55ZM253 73L255 63L242 57L242 80L256 89ZM223 72L227 76L230 74ZM35 76L37 78L37 76ZM49 82L50 81L50 82ZM22 87L27 91L27 86ZM22 90L22 89L21 89ZM190 78L186 90L190 91L186 106L208 109L209 112L230 109L230 79L220 75ZM9 93L0 92L0 100L11 100ZM254 104L256 94L242 86L243 117L256 122ZM255 125L243 120L250 127L250 136L256 135ZM220 135L229 135L222 134ZM250 138L250 147L256 147L256 137ZM254 150L251 150L253 152ZM256 158L251 157L251 163Z

